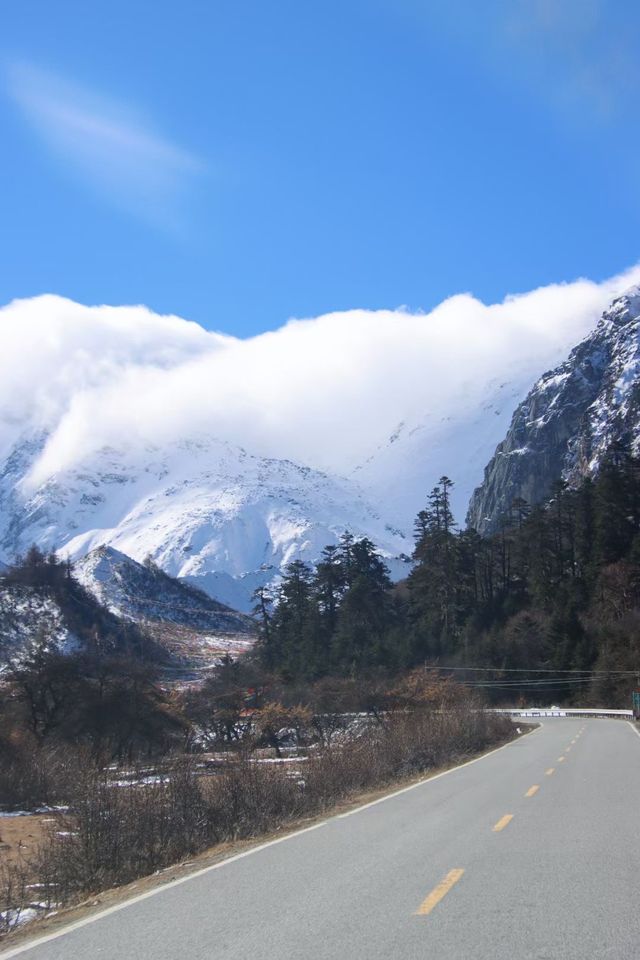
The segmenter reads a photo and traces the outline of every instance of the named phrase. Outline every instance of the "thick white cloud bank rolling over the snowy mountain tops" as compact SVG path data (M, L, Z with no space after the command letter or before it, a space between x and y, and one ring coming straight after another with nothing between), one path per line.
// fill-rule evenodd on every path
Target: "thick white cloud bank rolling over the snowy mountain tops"
M248 340L144 307L15 301L0 310L0 454L27 428L51 431L39 482L105 444L204 431L346 474L399 421L468 419L487 383L526 388L639 282L640 266L490 306L461 294L428 314L350 310Z

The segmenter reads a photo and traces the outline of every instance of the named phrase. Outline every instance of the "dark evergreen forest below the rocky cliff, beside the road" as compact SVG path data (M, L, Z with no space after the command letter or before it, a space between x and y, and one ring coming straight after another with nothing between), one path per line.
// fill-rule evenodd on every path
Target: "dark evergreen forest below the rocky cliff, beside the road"
M443 477L415 524L415 566L393 586L367 540L344 537L257 594L261 657L283 676L430 663L495 698L627 705L640 643L640 461L610 450L595 479L500 529L458 530ZM461 669L464 668L464 669Z

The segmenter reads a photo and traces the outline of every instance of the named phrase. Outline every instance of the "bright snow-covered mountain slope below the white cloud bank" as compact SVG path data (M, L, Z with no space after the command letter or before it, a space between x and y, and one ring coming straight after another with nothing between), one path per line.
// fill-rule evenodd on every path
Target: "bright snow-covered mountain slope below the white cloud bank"
M256 586L291 560L317 559L347 529L391 561L411 549L355 484L291 461L200 437L164 449L102 448L32 484L46 439L22 438L0 470L5 556L36 543L77 560L109 545L246 612Z

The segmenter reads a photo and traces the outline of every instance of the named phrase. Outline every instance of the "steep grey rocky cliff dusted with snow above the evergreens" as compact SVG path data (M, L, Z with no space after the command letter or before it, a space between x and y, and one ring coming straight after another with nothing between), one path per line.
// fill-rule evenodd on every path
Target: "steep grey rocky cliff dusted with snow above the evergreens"
M494 530L513 501L597 472L612 444L640 447L640 287L614 300L594 332L517 407L469 504L467 523Z

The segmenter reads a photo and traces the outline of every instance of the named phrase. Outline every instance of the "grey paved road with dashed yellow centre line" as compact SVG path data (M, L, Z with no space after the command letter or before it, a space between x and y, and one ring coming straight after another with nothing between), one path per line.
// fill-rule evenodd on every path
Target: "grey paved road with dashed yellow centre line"
M546 720L439 779L0 957L638 960L639 799L631 724Z

